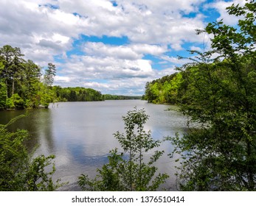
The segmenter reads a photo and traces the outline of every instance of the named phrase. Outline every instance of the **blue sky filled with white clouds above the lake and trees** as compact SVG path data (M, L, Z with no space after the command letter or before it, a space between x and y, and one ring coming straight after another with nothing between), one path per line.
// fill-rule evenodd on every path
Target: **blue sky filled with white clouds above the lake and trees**
M237 19L225 8L244 0L1 0L0 46L57 66L55 85L142 95L145 83L173 74L177 55L209 48L196 35L208 22Z

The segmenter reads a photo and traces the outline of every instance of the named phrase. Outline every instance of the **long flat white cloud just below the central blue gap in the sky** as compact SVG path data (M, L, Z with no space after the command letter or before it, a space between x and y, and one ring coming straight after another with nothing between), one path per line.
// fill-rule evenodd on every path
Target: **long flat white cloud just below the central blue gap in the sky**
M153 75L149 60L122 60L114 57L80 57L62 65L62 74L83 79L145 78Z

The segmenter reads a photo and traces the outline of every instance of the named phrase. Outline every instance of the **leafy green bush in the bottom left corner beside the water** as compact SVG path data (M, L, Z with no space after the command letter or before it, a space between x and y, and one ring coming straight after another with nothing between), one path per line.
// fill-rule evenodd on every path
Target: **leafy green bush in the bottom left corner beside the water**
M25 146L29 137L27 130L9 132L7 129L21 117L6 125L0 124L0 191L54 191L63 185L60 180L52 180L54 155L33 158Z

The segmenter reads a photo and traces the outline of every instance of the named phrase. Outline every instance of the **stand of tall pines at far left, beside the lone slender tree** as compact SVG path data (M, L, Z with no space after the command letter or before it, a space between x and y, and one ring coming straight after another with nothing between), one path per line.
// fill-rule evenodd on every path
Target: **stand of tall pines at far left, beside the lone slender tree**
M0 48L1 108L15 108L13 99L19 96L22 107L38 107L38 86L41 68L32 60L25 61L21 49L10 45ZM5 90L5 97L3 96ZM5 102L5 103L4 103ZM19 107L19 108L22 108Z

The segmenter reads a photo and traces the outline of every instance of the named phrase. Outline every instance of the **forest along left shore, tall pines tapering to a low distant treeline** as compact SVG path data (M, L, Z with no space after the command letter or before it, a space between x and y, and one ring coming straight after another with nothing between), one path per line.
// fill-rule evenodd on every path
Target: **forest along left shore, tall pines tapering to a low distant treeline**
M0 48L0 110L48 107L50 102L103 101L103 95L91 88L53 86L56 67L46 69L32 60L24 60L21 49Z

